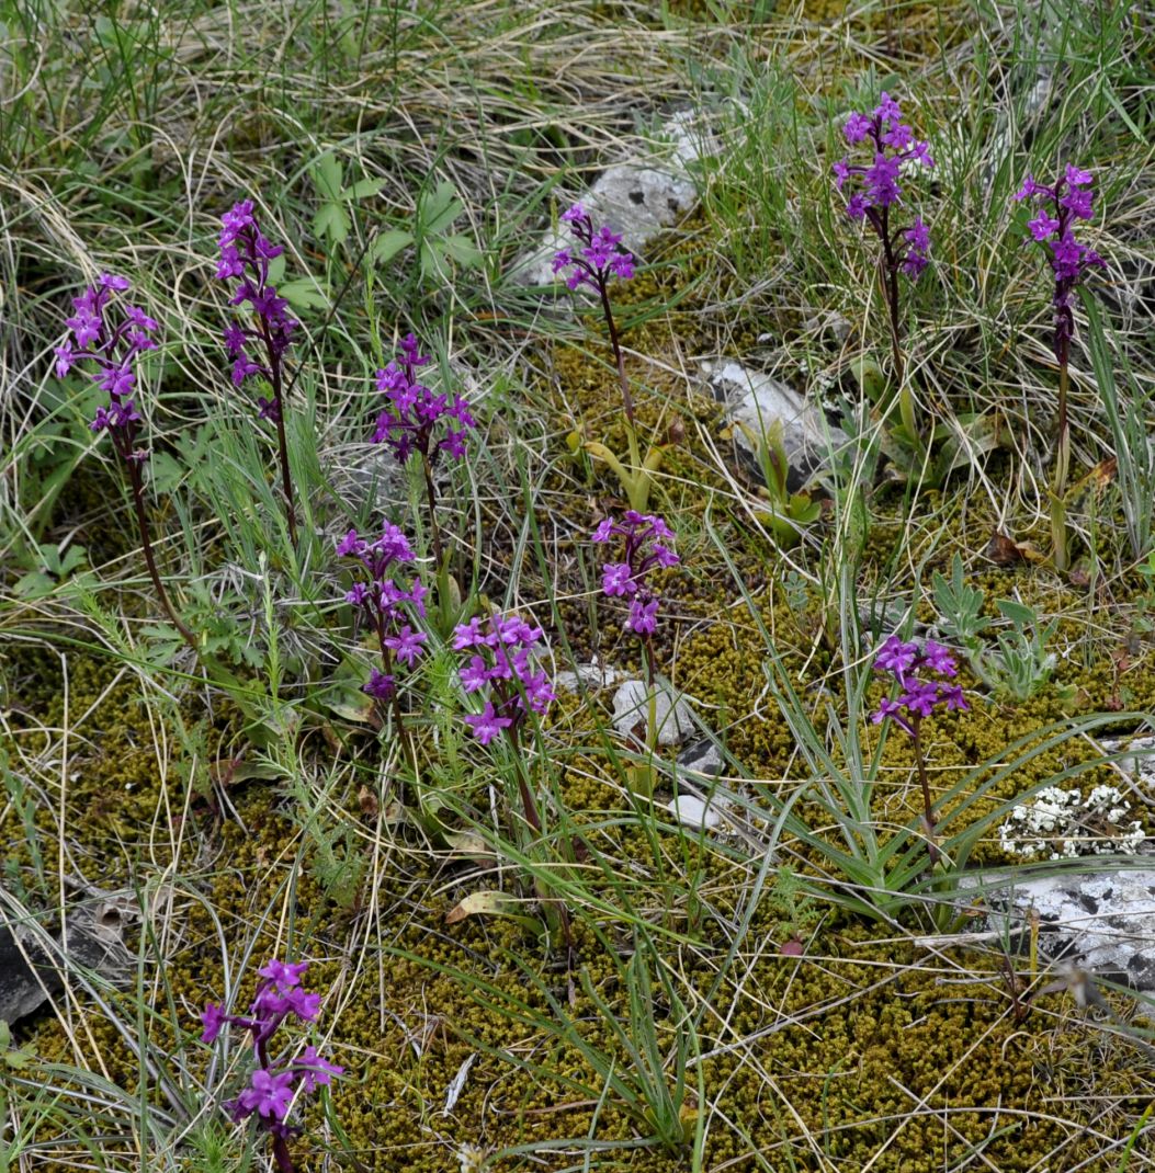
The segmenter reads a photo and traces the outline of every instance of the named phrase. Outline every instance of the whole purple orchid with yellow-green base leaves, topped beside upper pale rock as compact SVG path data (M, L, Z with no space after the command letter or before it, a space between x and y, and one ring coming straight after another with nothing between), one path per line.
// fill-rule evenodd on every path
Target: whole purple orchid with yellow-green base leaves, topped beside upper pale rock
M626 489L630 506L634 509L644 509L649 501L653 474L658 470L662 463L662 449L655 445L642 460L637 445L637 423L634 418L634 396L629 389L626 357L622 353L621 338L609 300L610 283L615 279L626 282L634 276L634 255L621 246L621 233L610 231L608 224L595 230L593 216L581 203L563 211L561 219L569 225L575 246L559 249L554 253L553 272L554 276L565 273L566 286L570 290L576 290L582 285L588 286L597 294L601 303L606 328L609 331L609 345L617 367L617 385L622 392L629 467L627 468L603 443L587 441L585 448L592 456L604 461L614 470L622 488Z

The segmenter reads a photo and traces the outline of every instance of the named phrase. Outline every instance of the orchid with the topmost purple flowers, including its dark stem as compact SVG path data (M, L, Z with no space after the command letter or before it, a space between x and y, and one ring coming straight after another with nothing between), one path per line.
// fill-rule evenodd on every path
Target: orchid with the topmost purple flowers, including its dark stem
M904 164L931 168L934 160L931 158L930 145L914 137L914 131L903 122L898 102L885 91L871 114L851 114L843 135L850 145L865 144L871 154L870 164L851 163L849 156L843 156L831 170L839 191L847 185L856 189L846 201L846 215L869 224L882 245L878 259L890 323L894 385L899 391L903 423L912 442L918 445L913 400L904 387L898 274L901 272L912 282L918 280L930 263L931 236L920 216L916 216L906 228L899 228L894 210L901 203L899 178Z

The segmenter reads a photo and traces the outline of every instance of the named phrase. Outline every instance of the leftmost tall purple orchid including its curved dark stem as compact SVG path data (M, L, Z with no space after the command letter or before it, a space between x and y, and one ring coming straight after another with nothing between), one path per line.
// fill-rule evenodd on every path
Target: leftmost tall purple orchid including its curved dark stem
M121 320L115 326L108 320L114 294L126 293L130 287L127 277L101 273L95 285L89 285L80 297L73 298L73 316L65 319L70 337L55 350L56 377L63 379L80 364L92 364L95 368L86 373L108 394L108 401L96 408L90 427L93 432L107 432L113 439L113 448L128 470L136 528L153 588L181 638L194 651L198 651L196 637L177 617L161 582L144 508L143 466L149 452L137 446L141 414L133 400L137 392L135 364L141 354L156 350L151 335L158 326L154 318L136 305L126 305Z

